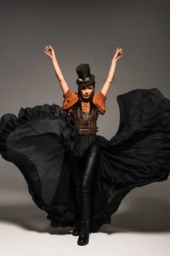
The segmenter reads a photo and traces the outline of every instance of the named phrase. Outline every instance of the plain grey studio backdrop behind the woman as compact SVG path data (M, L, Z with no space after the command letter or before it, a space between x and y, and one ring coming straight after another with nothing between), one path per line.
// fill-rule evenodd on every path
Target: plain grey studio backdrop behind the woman
M117 95L155 87L170 99L169 26L169 0L1 2L0 116L17 116L21 107L62 105L62 90L45 45L54 48L72 91L77 92L77 65L90 64L95 93L102 89L119 47L123 57L107 94L106 113L97 123L98 134L110 140L119 127ZM114 215L114 227L169 230L169 192L169 179L134 189ZM34 205L20 171L2 157L0 205L0 220L37 230L42 223L49 224L45 212Z

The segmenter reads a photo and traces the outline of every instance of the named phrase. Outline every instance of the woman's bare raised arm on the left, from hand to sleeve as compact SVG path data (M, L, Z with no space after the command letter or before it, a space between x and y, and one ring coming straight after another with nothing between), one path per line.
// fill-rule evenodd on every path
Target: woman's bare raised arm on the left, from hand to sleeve
M45 45L44 52L48 55L49 58L51 58L57 79L59 80L59 84L61 85L63 93L65 94L69 88L64 77L62 76L62 72L59 68L59 65L54 53L54 49L51 47L51 45L49 45L49 47Z

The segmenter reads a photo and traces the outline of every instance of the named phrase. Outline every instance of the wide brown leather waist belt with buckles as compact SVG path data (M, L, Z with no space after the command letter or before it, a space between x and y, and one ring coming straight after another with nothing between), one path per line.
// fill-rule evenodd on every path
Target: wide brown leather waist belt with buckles
M98 127L96 121L92 120L74 120L77 125L78 134L92 134L96 135Z

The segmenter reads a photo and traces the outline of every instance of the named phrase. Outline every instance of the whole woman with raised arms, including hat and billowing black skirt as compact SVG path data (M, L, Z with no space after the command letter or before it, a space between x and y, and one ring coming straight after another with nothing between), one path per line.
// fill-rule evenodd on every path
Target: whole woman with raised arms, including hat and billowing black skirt
M77 244L111 223L123 198L135 187L167 180L170 173L170 100L157 88L117 96L120 123L106 140L96 135L113 81L117 48L108 79L94 94L88 64L77 67L78 93L68 88L54 50L45 47L63 90L62 108L44 104L0 120L0 154L24 175L35 204L51 227L74 227ZM111 117L112 118L112 117Z

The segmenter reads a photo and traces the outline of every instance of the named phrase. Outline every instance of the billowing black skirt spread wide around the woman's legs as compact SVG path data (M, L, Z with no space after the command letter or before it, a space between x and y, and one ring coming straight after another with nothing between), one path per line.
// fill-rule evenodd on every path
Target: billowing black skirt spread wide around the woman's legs
M119 129L111 140L81 135L58 105L21 108L18 118L0 119L0 154L20 169L34 203L51 227L75 227L73 159L98 141L99 161L91 186L90 232L111 223L135 187L167 180L170 174L170 100L157 88L118 95ZM111 117L112 118L112 117Z

